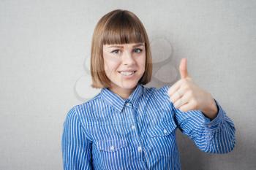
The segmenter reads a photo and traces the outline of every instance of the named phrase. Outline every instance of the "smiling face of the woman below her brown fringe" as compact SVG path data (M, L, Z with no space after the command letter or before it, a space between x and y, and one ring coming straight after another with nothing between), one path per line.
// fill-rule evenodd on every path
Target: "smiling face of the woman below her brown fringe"
M110 90L133 90L145 72L145 43L103 45L103 58Z

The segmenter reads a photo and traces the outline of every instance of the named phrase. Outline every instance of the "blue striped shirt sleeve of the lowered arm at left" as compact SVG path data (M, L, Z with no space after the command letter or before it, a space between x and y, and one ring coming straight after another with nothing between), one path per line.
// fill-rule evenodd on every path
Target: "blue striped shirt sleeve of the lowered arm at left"
M91 142L83 133L75 107L64 121L61 149L64 170L91 169Z

